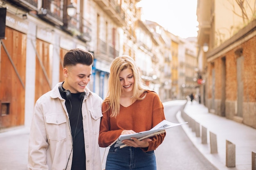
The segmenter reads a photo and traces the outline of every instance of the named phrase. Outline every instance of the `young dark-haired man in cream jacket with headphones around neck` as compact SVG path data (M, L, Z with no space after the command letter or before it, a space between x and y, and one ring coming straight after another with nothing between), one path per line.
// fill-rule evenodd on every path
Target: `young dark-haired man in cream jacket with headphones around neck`
M63 59L65 81L36 101L29 170L102 169L98 144L102 99L86 87L92 62L90 52L68 51Z

